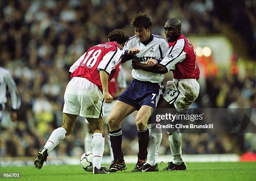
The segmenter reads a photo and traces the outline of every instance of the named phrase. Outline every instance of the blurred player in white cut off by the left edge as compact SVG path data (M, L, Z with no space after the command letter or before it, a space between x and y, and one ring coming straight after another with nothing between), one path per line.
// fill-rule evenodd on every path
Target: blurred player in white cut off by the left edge
M3 60L0 60L0 63L3 63ZM12 112L11 112L11 120L15 121L17 119L17 110L20 108L20 97L18 94L18 90L16 84L10 74L10 72L3 68L0 64L0 124L3 118L3 110L5 108L5 103L7 102L6 96L6 87L10 92L10 98L12 103Z

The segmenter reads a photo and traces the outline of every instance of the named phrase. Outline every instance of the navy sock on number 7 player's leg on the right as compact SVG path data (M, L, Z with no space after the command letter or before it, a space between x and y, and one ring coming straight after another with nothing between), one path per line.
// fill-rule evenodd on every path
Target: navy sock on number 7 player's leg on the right
M138 131L139 152L138 159L146 160L148 155L149 130L148 126L143 131Z

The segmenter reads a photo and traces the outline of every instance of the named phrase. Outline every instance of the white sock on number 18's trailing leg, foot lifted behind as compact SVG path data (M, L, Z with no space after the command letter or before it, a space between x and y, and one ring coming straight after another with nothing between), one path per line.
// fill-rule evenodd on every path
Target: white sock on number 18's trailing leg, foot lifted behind
M61 142L64 140L66 136L66 129L60 127L52 131L51 136L49 137L48 141L44 145L44 148L47 148L47 153L50 152Z

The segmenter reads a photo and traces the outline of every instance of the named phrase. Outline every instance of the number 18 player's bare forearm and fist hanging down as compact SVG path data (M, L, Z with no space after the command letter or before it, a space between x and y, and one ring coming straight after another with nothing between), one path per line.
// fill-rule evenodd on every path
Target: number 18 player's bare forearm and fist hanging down
M108 93L108 73L104 70L100 69L100 81L102 84L102 94L104 97L104 101L107 103L111 103L113 97Z

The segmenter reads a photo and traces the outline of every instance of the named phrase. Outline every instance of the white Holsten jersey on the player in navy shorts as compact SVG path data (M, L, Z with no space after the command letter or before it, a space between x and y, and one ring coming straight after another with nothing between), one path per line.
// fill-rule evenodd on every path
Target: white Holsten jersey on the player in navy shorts
M151 39L146 45L138 40L137 35L130 37L123 47L123 55L127 55L128 50L132 47L137 47L141 50L136 54L136 57L141 61L141 63L146 62L148 59L158 60L160 58L164 58L169 49L168 43L163 37L153 34L151 34ZM164 74L147 72L142 69L133 69L132 76L134 79L152 83L162 82L164 79Z

